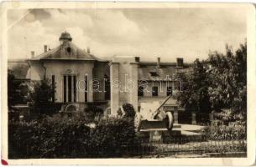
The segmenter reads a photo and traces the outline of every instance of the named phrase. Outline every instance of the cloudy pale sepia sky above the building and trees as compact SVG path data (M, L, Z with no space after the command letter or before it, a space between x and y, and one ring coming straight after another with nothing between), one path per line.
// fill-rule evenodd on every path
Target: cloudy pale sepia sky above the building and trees
M139 56L144 61L192 62L209 51L244 43L246 11L233 8L10 9L8 58L31 58L71 33L98 58Z

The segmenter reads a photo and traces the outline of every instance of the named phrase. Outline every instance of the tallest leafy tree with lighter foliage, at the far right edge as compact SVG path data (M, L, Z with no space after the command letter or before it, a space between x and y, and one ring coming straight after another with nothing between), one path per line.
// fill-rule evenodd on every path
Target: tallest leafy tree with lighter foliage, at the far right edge
M226 55L210 53L207 59L209 94L212 108L231 109L233 113L246 114L247 109L247 43L241 44L235 53Z

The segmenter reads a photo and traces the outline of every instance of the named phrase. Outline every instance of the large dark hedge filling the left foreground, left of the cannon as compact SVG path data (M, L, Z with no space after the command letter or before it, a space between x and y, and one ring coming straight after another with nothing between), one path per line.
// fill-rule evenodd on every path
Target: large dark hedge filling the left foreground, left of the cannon
M58 116L56 116L58 118ZM133 144L133 121L101 119L89 128L79 119L46 118L8 124L8 156L26 158L86 158L120 156L122 144Z

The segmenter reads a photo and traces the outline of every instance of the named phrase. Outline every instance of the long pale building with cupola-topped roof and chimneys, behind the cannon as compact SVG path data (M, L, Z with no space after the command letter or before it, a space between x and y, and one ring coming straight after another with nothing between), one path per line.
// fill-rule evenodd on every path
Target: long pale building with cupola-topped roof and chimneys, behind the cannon
M50 49L44 45L44 53L37 56L31 52L27 78L31 81L50 79L55 94L52 100L76 109L86 104L98 104L107 114L116 115L119 106L133 104L139 110L140 104L163 101L168 95L175 94L174 74L188 66L183 58L175 63L142 62L139 57L114 57L102 60L90 52L90 48L78 48L72 43L71 34L60 35L60 46ZM176 107L175 99L166 104Z

